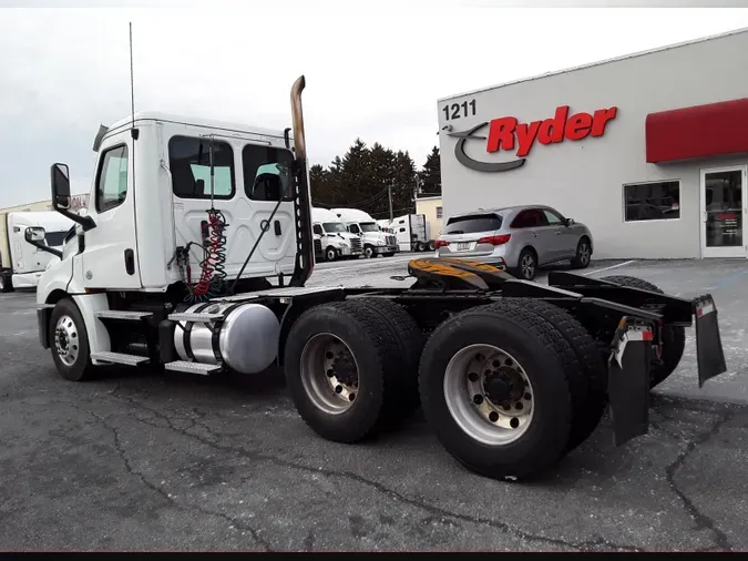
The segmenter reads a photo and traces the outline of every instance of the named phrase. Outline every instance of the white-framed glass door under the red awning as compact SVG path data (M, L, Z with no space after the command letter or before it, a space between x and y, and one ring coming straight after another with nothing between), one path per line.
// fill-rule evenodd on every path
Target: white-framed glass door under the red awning
M701 170L701 257L746 257L746 166Z

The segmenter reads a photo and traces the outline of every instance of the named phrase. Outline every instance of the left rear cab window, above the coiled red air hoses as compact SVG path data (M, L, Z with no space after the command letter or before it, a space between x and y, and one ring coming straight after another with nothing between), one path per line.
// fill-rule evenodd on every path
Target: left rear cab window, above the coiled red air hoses
M211 198L211 140L173 136L168 141L172 191L180 198ZM213 141L213 196L234 196L234 151Z

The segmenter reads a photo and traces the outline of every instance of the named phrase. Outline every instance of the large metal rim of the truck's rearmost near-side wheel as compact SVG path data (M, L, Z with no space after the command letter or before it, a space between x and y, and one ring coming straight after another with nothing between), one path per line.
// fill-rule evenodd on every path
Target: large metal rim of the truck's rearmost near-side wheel
M447 366L443 391L452 419L484 445L514 442L532 424L530 378L514 357L493 345L459 350Z

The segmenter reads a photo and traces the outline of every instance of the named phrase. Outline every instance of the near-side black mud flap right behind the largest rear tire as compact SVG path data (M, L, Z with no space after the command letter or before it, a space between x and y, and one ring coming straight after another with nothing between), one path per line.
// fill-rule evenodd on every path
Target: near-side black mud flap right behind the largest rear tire
M608 405L615 445L646 435L649 428L650 324L624 316L608 358Z

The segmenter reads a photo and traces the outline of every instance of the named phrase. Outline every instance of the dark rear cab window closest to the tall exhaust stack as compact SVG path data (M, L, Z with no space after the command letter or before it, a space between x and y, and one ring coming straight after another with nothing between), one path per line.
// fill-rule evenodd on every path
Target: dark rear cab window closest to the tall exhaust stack
M289 150L247 144L242 150L244 192L252 201L291 198L290 166L294 154Z

